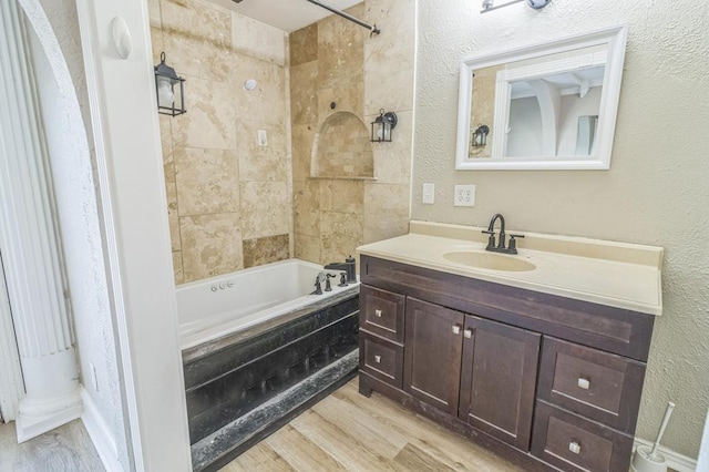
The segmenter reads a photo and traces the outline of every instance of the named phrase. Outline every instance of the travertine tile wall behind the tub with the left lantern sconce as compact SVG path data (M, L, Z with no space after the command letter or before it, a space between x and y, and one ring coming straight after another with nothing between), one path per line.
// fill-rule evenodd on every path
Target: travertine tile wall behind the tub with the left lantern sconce
M161 115L175 281L288 258L286 34L206 0L148 6L155 62L186 79L187 113Z

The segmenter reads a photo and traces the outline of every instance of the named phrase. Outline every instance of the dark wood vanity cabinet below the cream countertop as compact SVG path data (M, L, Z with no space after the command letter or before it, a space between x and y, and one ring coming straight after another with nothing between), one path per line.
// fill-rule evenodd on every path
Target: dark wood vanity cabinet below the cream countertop
M525 470L628 470L653 316L369 256L360 267L360 392Z

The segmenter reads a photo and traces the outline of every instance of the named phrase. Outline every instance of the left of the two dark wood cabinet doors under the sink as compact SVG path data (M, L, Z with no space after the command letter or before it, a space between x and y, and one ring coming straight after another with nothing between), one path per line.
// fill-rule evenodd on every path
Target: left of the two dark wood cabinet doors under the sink
M464 315L409 298L403 389L450 414L458 412Z

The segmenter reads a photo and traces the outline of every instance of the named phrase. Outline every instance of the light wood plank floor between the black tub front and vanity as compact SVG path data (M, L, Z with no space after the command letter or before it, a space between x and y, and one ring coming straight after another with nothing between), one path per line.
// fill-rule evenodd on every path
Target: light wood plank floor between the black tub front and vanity
M384 397L362 397L357 381L222 471L520 471Z

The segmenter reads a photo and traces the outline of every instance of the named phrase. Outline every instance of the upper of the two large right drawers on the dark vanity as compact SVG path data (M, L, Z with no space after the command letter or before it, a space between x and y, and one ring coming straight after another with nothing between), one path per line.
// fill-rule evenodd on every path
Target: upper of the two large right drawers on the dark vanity
M545 337L537 398L633 434L644 377L643 362Z

